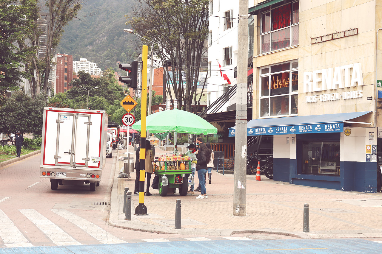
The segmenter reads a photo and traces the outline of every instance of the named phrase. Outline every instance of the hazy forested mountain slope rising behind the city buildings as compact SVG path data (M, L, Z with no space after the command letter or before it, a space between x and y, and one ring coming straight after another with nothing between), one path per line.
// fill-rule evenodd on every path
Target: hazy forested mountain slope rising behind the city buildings
M65 32L56 49L56 53L73 55L73 60L87 58L97 63L102 70L113 68L119 70L117 61L129 63L132 55L139 51L132 42L138 37L123 32L126 18L131 11L134 0L88 0L83 4L78 16L64 27ZM91 13L93 13L91 15ZM91 16L89 16L91 15Z

